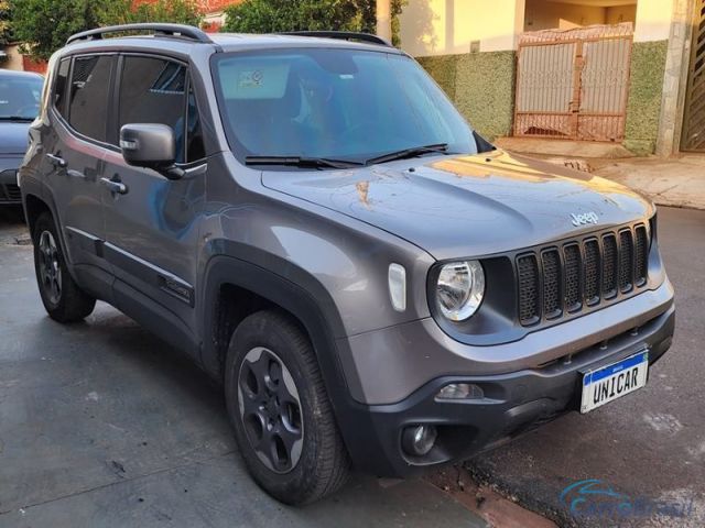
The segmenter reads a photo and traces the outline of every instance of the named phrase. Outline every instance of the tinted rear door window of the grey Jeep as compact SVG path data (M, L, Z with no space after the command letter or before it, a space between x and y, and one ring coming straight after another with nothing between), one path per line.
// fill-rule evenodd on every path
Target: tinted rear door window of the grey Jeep
M106 141L112 56L77 57L70 79L68 121L78 132Z

